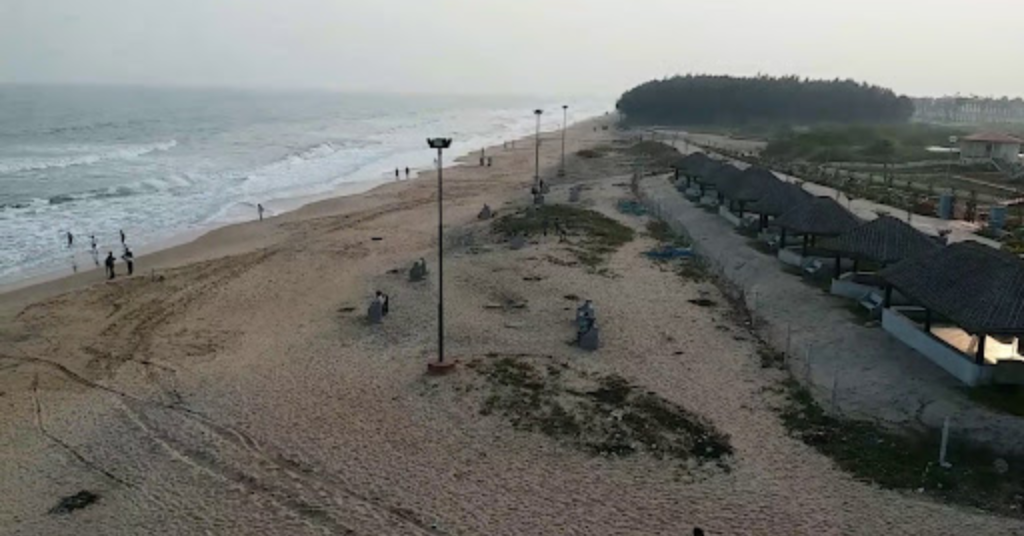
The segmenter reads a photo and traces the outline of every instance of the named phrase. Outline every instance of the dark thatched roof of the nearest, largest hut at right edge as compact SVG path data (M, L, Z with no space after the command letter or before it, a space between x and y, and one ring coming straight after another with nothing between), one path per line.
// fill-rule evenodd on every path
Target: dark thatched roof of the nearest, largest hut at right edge
M880 276L969 333L1024 335L1024 262L1012 253L957 242Z

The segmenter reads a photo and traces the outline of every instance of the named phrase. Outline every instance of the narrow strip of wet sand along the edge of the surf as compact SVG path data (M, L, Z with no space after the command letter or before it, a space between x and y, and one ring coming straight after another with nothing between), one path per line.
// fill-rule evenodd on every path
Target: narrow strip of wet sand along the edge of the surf
M604 117L606 116L593 116L569 123L566 125L566 130L579 129L582 125L599 122ZM560 128L548 131L542 130L541 138L543 140L546 136L557 137L561 131L562 129ZM528 142L532 138L532 135L526 135L509 141L523 143ZM511 148L504 149L501 145L488 146L483 149L487 154L519 150L518 148L515 150ZM477 151L473 150L447 159L447 163L443 166L443 169L447 171L457 167L472 167L468 165L469 161L467 158L474 153L477 153ZM322 195L306 195L273 199L267 201L264 206L276 205L279 207L284 206L285 208L274 210L275 213L273 215L264 217L264 222L272 222L275 219L287 217L301 218L307 211L310 213L315 212L317 205L324 203L336 203L343 200L358 199L362 196L371 196L375 192L388 187L415 183L417 180L433 177L434 173L435 171L433 169L422 168L414 170L414 173L409 179L391 180L388 178L382 178L350 182L349 187L351 187L353 192L342 193L345 188L339 185L333 189L330 193ZM193 262L212 260L214 258L249 252L251 249L247 249L246 245L252 244L253 247L259 247L258 244L253 243L251 237L250 239L243 241L241 244L231 243L233 241L230 240L220 242L220 239L223 235L230 235L231 230L244 230L259 223L260 221L258 218L244 221L211 223L210 225L204 225L199 229L183 231L175 234L172 238L167 240L161 240L147 246L134 248L134 251L136 252L135 274L132 277L141 278L148 274L153 274L156 271L168 270ZM88 252L86 252L86 254L88 255ZM89 257L86 256L86 259L88 258ZM120 257L118 257L116 270L119 271L119 279L127 277L124 275L125 265L124 262L120 260ZM68 274L67 271L67 269L53 271L20 281L0 284L0 319L3 319L5 316L15 315L18 311L20 311L20 308L33 302L106 281L103 276L102 266L96 267L87 265L85 269L80 266L80 270L74 274ZM118 279L115 281L118 281Z

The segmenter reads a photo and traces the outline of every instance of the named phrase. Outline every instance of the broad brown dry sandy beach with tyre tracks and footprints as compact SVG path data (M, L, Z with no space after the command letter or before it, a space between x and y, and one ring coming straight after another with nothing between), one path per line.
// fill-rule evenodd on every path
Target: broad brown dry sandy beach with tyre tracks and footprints
M567 152L616 147L608 121ZM558 133L541 164L553 177ZM476 215L529 203L530 140L444 171L446 345L436 344L436 176L211 232L101 273L0 295L2 534L1024 534L1019 520L879 489L791 438L783 372L707 281L643 255L620 213L629 160L569 159L549 203L637 236L603 270L552 234L513 250ZM408 281L425 258L427 281ZM391 314L365 320L380 289ZM602 347L573 337L593 299ZM705 306L690 300L700 299ZM470 365L511 358L616 374L730 438L728 468L598 456L483 414ZM653 396L652 395L652 396ZM94 503L51 511L88 491Z

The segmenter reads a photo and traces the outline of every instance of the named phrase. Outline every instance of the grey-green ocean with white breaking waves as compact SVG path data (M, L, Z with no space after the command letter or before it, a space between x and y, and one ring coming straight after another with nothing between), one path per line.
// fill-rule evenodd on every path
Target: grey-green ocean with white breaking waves
M287 200L368 190L445 161L603 114L609 100L316 91L0 87L0 284L256 217ZM402 171L402 178L404 172ZM68 247L67 234L74 236Z

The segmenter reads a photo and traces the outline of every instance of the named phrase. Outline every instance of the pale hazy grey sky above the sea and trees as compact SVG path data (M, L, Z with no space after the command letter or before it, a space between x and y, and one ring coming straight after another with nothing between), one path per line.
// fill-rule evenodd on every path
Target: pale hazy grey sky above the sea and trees
M1024 0L0 0L0 83L617 94L687 72L1024 95Z

